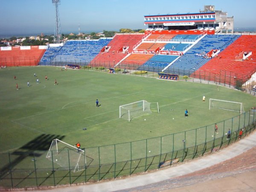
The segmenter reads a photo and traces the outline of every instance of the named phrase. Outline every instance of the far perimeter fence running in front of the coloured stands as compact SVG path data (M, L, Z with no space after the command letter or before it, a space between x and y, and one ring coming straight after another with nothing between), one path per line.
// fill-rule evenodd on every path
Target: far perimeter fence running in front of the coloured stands
M59 61L44 61L40 62L41 66L54 66L62 67L67 65L80 66L82 70L96 70L102 72L108 72L109 69L118 69L116 73L122 73L125 75L140 75L145 77L158 77L158 73L169 73L178 76L183 76L180 80L193 81L200 83L216 84L224 87L236 88L238 90L247 91L251 93L251 90L256 85L256 76L253 73L248 75L239 72L232 72L229 70L221 70L218 73L198 70L198 69L185 69L184 67L169 67L164 72L163 65L143 65L140 62L125 63L121 62L119 64L115 61L99 61L97 63L83 60L70 60L67 59ZM116 66L116 67L115 67ZM256 69L255 69L256 70ZM255 71L254 70L254 71ZM147 73L140 73L141 71L146 71Z

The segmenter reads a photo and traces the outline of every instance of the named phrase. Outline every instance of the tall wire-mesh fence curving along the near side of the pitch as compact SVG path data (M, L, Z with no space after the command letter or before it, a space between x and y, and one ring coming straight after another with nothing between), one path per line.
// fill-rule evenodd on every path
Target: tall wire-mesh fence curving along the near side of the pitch
M255 112L256 110L251 109L233 118L216 122L218 131L215 130L215 124L212 124L162 137L84 148L85 155L81 158L86 163L79 164L80 171L76 172L70 166L70 162L74 162L70 156L71 152L74 153L72 149L63 149L67 155L58 159L66 162L64 164L67 166L59 166L60 163L53 156L52 160L48 160L48 151L26 151L26 148L20 148L15 152L2 153L0 186L3 189L14 189L72 185L172 166L218 151L237 142L240 137L246 137L256 129ZM45 145L47 137L49 136L37 140L39 145Z

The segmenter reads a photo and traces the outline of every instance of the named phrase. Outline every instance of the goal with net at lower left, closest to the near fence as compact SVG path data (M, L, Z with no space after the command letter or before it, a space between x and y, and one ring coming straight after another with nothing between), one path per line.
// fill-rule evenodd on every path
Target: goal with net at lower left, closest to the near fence
M49 148L46 158L57 163L61 168L78 172L85 169L85 151L54 139Z

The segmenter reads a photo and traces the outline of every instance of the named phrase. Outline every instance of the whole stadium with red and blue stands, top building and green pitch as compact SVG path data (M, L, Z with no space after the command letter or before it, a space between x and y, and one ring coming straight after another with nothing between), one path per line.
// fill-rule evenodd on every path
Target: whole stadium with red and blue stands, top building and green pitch
M143 34L1 47L3 189L159 171L250 137L256 35L233 33L214 6L144 24Z

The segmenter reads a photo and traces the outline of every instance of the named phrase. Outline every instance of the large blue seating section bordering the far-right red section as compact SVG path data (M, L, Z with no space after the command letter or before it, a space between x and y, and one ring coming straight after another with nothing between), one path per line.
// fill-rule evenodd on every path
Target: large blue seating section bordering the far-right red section
M190 75L211 59L206 57L207 52L212 49L223 51L237 38L239 38L239 35L206 35L169 66L165 73Z

